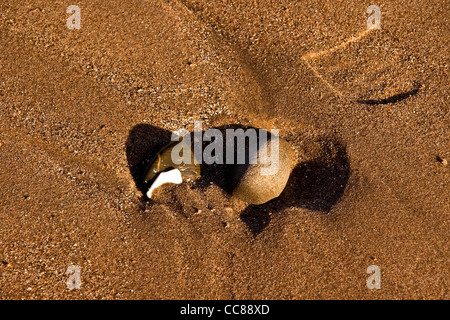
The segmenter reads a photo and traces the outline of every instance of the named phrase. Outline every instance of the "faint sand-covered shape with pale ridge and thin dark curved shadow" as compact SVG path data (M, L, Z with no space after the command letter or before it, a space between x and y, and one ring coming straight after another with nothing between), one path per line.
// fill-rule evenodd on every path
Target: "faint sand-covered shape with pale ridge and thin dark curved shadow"
M393 103L420 88L414 57L389 32L367 29L330 49L302 57L334 93L365 104Z

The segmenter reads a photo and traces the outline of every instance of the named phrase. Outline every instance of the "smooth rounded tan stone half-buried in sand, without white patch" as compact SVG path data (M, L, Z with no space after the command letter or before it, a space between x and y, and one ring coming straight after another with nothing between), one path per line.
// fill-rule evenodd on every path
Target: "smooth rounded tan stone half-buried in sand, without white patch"
M251 164L254 157L257 157L257 161ZM266 164L263 163L264 159L268 160ZM293 164L294 152L289 143L272 135L270 140L259 146L256 154L248 154L246 164L234 165L233 196L249 204L263 204L278 197L289 180Z

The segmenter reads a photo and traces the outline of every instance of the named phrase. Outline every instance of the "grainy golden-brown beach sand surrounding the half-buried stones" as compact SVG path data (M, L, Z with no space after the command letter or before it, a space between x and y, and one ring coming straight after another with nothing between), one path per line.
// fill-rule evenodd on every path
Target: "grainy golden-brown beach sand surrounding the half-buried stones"
M448 2L371 31L366 1L74 4L80 30L0 3L0 298L449 298ZM194 120L280 129L282 196L206 170L145 202L137 165Z

